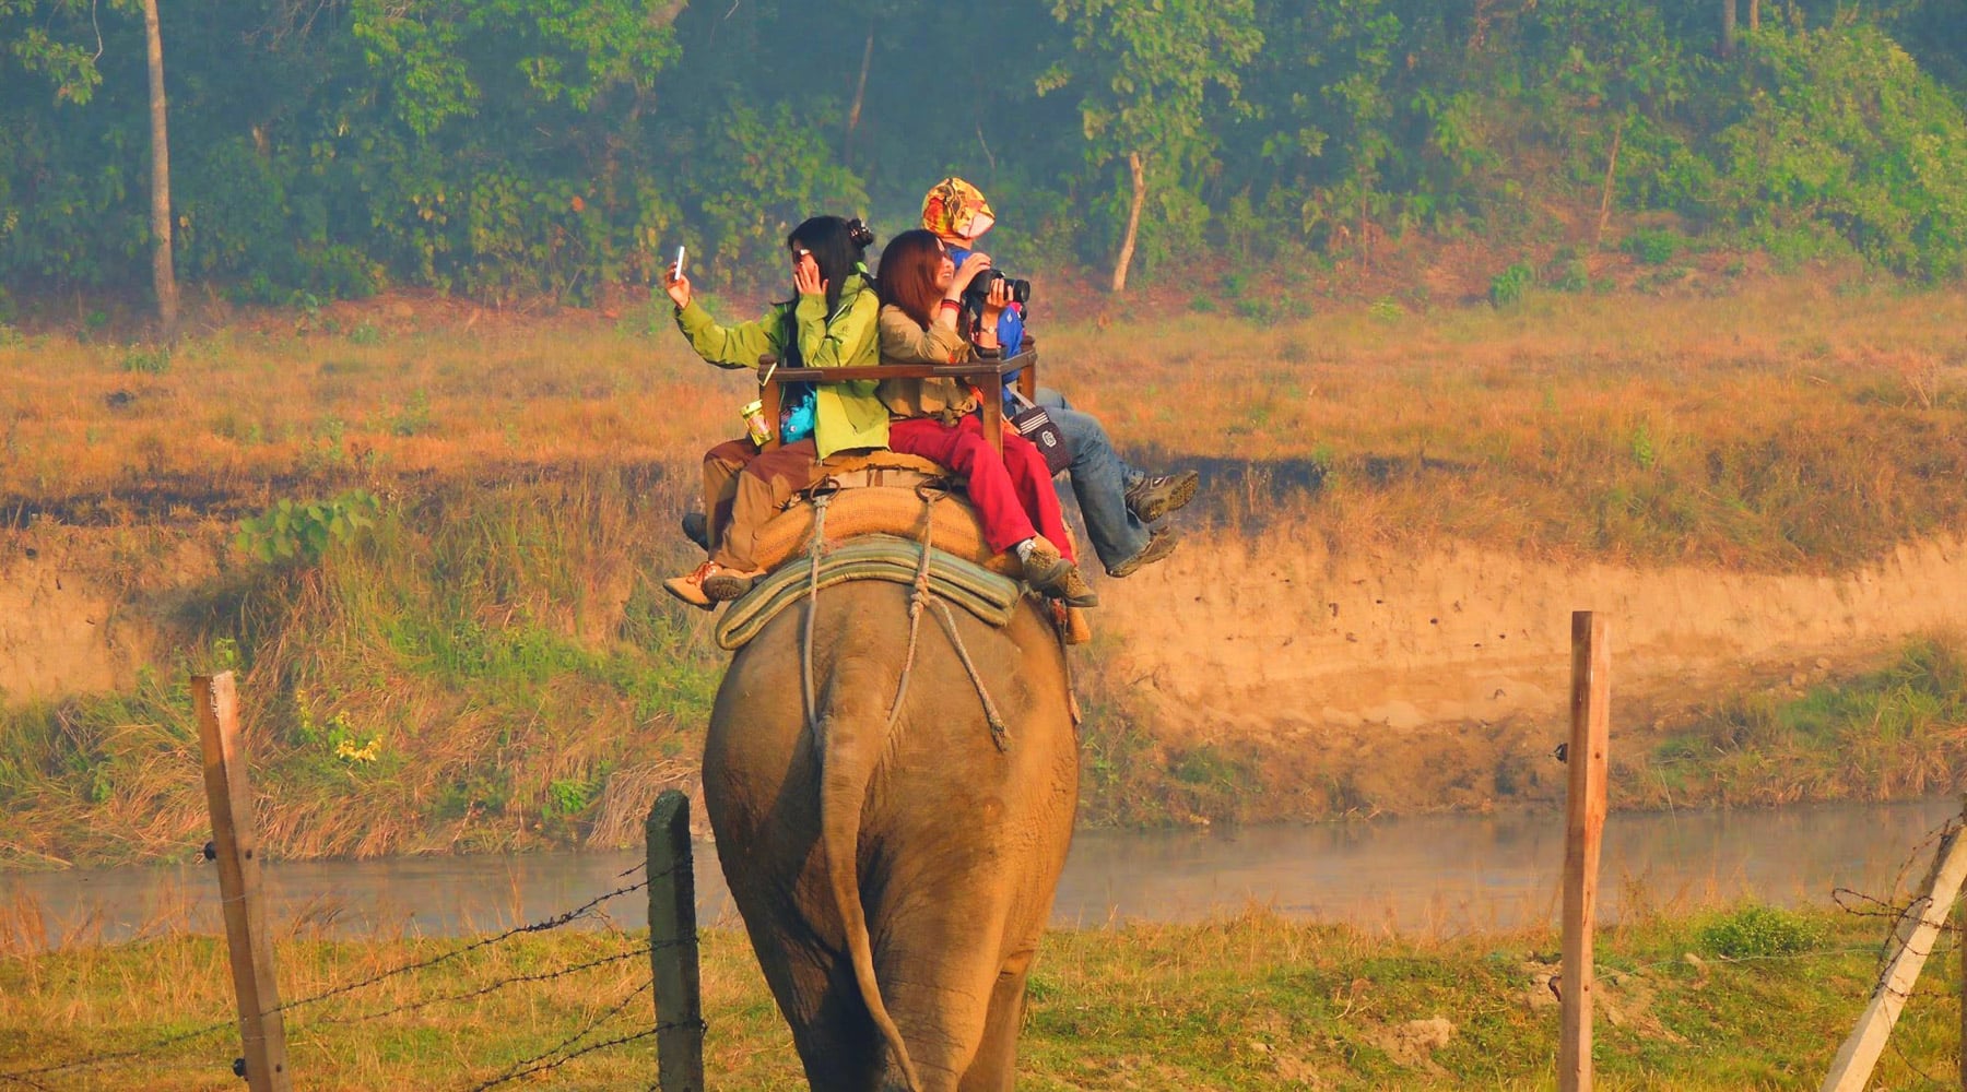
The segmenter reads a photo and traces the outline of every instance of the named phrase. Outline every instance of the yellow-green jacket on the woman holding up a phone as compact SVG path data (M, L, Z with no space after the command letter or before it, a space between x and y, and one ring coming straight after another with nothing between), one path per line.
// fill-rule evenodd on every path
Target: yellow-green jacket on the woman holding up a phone
M865 265L860 271L865 273ZM787 320L787 312L791 320ZM881 363L881 302L873 285L854 277L840 289L840 308L826 316L824 295L801 295L799 302L775 302L765 318L738 326L718 326L710 312L690 300L677 312L677 328L696 355L718 367L757 367L765 354L789 361L785 338L797 328L797 359L805 367L858 367ZM875 397L873 379L818 383L812 438L820 458L846 448L887 448L887 407ZM777 422L773 422L777 428Z

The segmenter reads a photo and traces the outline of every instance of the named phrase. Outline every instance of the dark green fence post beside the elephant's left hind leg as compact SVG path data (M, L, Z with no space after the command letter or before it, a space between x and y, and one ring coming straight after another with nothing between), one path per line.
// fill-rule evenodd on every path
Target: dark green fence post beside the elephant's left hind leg
M649 962L655 970L655 1076L663 1092L704 1092L704 1002L696 974L690 797L655 797L649 839Z

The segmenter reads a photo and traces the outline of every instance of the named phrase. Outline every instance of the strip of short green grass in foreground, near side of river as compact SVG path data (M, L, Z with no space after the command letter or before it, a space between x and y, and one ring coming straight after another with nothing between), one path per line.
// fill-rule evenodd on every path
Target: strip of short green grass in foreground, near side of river
M1875 917L1762 907L1648 915L1603 931L1599 1086L1814 1084L1865 1004L1884 935ZM651 1002L637 994L649 978L641 943L618 933L521 937L301 1006L287 1013L295 1082L470 1088L590 1025L582 1043L649 1029ZM281 996L309 998L460 945L287 939L277 951ZM1265 913L1052 933L1033 976L1021 1086L1550 1088L1558 1006L1546 980L1556 951L1552 931L1416 939ZM1880 1063L1880 1088L1955 1072L1959 960L1949 953L1936 955L1914 992ZM795 1084L789 1033L742 933L706 933L702 958L710 1086ZM596 960L612 962L480 992ZM470 996L423 1004L460 994ZM0 955L0 1070L138 1053L47 1074L53 1088L140 1082L167 1092L230 1080L238 1043L228 1017L224 945L209 937ZM641 1086L653 1066L643 1039L574 1059L551 1080Z

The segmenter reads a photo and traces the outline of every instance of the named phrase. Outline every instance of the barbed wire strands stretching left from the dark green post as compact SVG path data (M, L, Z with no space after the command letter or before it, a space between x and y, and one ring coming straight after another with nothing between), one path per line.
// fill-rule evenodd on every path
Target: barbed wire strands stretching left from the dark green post
M665 793L665 797L667 795L671 795L671 793ZM675 795L681 797L681 793L675 793ZM675 807L675 801L671 801L671 805ZM661 809L661 807L663 807L663 803L659 801L657 809ZM686 803L683 807L685 807L685 819L683 819L683 823L685 823L685 829L686 829ZM657 848L659 848L659 846L655 846L655 837L653 835L655 835L655 831L653 831L653 817L651 817L651 860L657 858ZM537 919L537 921L529 921L529 923L523 923L523 925L515 925L515 927L500 931L500 933L494 933L494 935L476 937L476 939L470 939L466 943L460 943L460 945L454 945L450 949L445 949L445 951L441 951L437 955L431 955L431 956L425 956L425 958L417 958L417 960L409 960L409 962L403 962L403 964L397 964L397 966L391 966L387 970L374 972L374 974L364 974L364 976L360 976L356 980L340 982L340 984L328 986L325 990L319 990L319 992L313 992L313 994L307 994L307 996L301 996L301 998L285 1000L285 1002L273 1006L271 1010L260 1013L260 1015L262 1017L271 1017L275 1013L287 1015L287 1013L317 1011L323 1006L328 1006L330 1002L350 1000L350 998L354 998L354 996L358 996L362 992L374 992L376 988L380 988L384 984L391 984L391 982L415 978L415 976L419 976L423 972L441 968L445 964L452 964L452 962L456 962L462 956L468 956L472 953L494 949L498 945L515 941L519 937L543 935L543 933L551 933L551 931L557 931L557 929L572 927L572 925L578 925L578 923L606 919L604 907L608 903L612 903L616 900L622 900L626 896L637 894L637 892L647 892L651 888L651 884L657 882L657 880L686 876L690 868L692 868L692 860L690 860L690 854L688 854L688 848L686 848L686 841L685 841L685 852L681 856L671 854L671 858L669 858L669 862L665 866L651 870L647 864L637 864L637 866L633 866L629 870L624 870L618 876L618 880L627 878L627 876L631 876L635 872L647 872L647 876L643 876L641 880L629 882L629 884L616 886L614 890L610 890L606 894L600 894L600 896L594 896L592 900L588 900L588 901L584 901L584 903L580 903L580 905L576 905L572 909L566 909L566 911L561 911L561 913L555 913L551 917L543 917L543 919ZM686 888L692 888L692 886L694 884L686 884ZM651 921L651 929L653 927L655 927L655 923ZM502 974L498 978L492 978L490 982L482 982L482 984L476 984L472 988L448 990L448 992L439 992L439 994L431 994L431 996L421 996L421 998L407 1000L407 1002L397 1002L397 1004L382 1006L382 1008L372 1008L368 1011L321 1015L321 1017L315 1017L315 1019L309 1019L305 1023L297 1023L297 1025L289 1027L287 1029L287 1037L289 1039L307 1039L313 1031L325 1029L325 1027L360 1025L360 1023L372 1023L372 1021L391 1019L391 1017L399 1017L399 1015L405 1015L405 1013L413 1013L413 1011L421 1011L421 1010L429 1010L429 1008L437 1008L437 1006L452 1006L452 1004L462 1004L462 1002L486 998L486 996L492 996L492 994L498 994L498 992L504 992L504 990L509 990L509 988L517 988L517 986L533 986L533 984L541 984L541 982L553 982L553 980L561 980L561 978L570 978L570 976L584 974L584 972L598 970L598 968L618 966L618 964L624 964L624 962L629 962L629 960L635 960L635 958L649 958L653 962L655 956L659 956L663 953L671 953L671 951L690 949L688 951L688 958L694 962L694 955L696 955L694 949L696 949L696 945L698 945L698 931L694 927L694 915L688 915L688 929L685 929L677 937L649 939L645 943L635 943L635 945L629 945L626 949L618 949L618 951L612 951L612 953L606 953L606 955L598 955L598 956L592 956L592 958L582 958L582 960L568 962L568 964L555 966L555 968ZM641 998L645 998L645 996L649 996L651 992L655 992L655 988L657 988L657 974L645 976L639 986L635 986L633 990L629 990L620 1000L612 1002L606 1010L602 1010L598 1015L594 1015L592 1019L588 1019L572 1035L566 1035L566 1037L559 1039L557 1043L553 1043L551 1047L547 1047L543 1051L537 1051L537 1053L533 1053L529 1057L523 1057L523 1059L517 1059L517 1061L506 1065L502 1070L498 1070L492 1076L474 1078L470 1082L458 1084L458 1090L460 1092L484 1092L488 1088L498 1088L498 1086L504 1086L504 1084L517 1082L517 1080L537 1078L539 1074L557 1070L557 1068L572 1063L574 1059L582 1059L582 1057L594 1055L598 1051L626 1047L626 1045L631 1045L631 1043L643 1043L647 1039L657 1039L657 1037L663 1037L665 1033L673 1033L673 1031L694 1031L696 1035L700 1035L704 1031L704 1021L696 1013L694 1004L692 1006L683 1006L685 1011L681 1011L675 1019L657 1019L657 1021L647 1023L643 1027L637 1027L633 1031L626 1029L626 1025L631 1021L631 1011L633 1011L635 1002L641 1000ZM659 1006L659 1010L661 1010L661 1006ZM12 1086L12 1088L28 1088L28 1090L33 1090L33 1092L61 1092L63 1088L71 1086L69 1082L81 1078L83 1074L87 1074L90 1070L98 1070L102 1066L114 1066L114 1065L128 1065L128 1063L134 1063L134 1061L140 1061L140 1059L161 1059L167 1053L173 1053L175 1049L183 1047L185 1043L193 1043L193 1041L209 1039L209 1037L216 1039L222 1033L228 1033L228 1031L236 1033L238 1029L240 1029L240 1019L236 1019L236 1017L234 1019L214 1019L210 1023L201 1023L197 1027L191 1027L191 1029L185 1029L185 1031L177 1031L177 1033L171 1033L171 1035L163 1035L163 1037L151 1039L151 1041L136 1045L136 1047L126 1047L126 1049L116 1049L116 1051L85 1053L85 1055L65 1057L65 1059L57 1059L57 1061L47 1061L47 1063L33 1065L33 1066L0 1070L0 1088ZM608 1033L608 1035L600 1037L604 1033ZM230 1051L226 1051L226 1053L230 1055ZM226 1065L226 1063L214 1063L214 1065ZM244 1059L230 1059L230 1070L236 1076L246 1076L244 1068L246 1068ZM651 1088L657 1088L657 1084L651 1084Z

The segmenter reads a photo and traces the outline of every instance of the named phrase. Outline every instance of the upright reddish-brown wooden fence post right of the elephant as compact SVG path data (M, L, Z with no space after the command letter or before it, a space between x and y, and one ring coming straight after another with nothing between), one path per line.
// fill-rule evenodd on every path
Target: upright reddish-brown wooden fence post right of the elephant
M1605 748L1611 652L1605 621L1572 613L1570 793L1564 807L1564 1037L1558 1088L1591 1092L1591 927L1597 917L1599 835L1605 831Z

